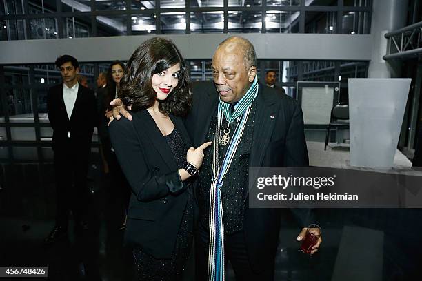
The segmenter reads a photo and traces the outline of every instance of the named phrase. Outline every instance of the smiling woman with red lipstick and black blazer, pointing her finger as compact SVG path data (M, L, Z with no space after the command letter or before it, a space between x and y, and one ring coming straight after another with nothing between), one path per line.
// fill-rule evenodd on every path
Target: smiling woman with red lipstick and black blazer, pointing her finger
M190 147L181 119L192 105L188 72L172 41L154 37L135 50L119 97L133 116L109 127L132 188L125 242L134 246L139 280L179 280L193 238L190 181L211 143Z

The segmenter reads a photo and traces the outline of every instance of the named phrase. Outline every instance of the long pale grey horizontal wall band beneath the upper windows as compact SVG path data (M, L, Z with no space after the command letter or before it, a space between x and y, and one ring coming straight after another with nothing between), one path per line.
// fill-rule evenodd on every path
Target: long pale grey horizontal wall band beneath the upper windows
M211 59L217 45L234 34L168 35L185 59ZM239 34L249 39L258 59L369 61L372 37L361 34ZM71 54L81 62L128 60L154 35L0 41L0 64L54 63Z

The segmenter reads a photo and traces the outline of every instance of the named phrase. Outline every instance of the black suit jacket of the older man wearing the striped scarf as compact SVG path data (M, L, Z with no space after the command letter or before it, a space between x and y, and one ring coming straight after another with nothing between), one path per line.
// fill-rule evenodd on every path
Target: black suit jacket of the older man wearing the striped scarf
M194 147L205 141L211 118L217 114L219 94L212 81L192 85L194 105L186 127ZM250 167L308 166L303 115L297 101L259 83L250 152ZM208 148L212 151L212 147ZM255 271L274 262L281 209L252 209L246 199L243 231Z

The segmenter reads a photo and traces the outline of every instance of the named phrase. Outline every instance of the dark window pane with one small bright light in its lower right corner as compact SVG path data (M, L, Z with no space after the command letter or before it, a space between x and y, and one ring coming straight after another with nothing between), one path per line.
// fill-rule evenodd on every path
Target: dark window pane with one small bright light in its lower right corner
M305 33L336 33L337 12L305 12Z

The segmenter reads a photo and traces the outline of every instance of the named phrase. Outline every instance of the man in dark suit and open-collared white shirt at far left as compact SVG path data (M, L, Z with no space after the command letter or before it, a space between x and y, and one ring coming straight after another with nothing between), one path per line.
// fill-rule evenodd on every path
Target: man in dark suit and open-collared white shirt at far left
M47 112L53 129L57 214L56 225L46 243L67 233L70 210L77 230L88 227L83 219L88 207L86 177L92 133L97 125L94 92L78 83L77 59L69 55L60 56L56 65L61 71L63 83L48 90Z

